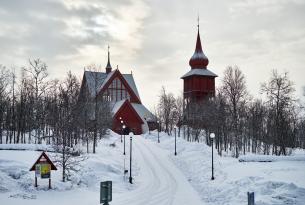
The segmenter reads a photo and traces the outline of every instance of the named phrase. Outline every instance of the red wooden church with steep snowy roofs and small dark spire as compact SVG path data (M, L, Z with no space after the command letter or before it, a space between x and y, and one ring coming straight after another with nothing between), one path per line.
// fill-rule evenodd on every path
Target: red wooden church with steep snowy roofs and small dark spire
M133 74L122 74L119 69L113 70L109 50L105 70L106 72L85 71L80 93L87 92L91 99L109 103L114 132L120 134L123 125L134 134L148 131L148 124L156 123L156 118L142 104Z

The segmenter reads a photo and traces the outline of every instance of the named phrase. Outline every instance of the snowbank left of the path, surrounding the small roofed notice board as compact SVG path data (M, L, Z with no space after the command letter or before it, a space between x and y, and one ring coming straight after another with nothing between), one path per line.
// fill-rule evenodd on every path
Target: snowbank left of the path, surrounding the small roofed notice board
M92 152L92 145L89 148ZM120 136L112 132L98 144L96 154L87 154L88 159L81 162L81 169L69 181L61 181L61 167L52 171L52 190L48 190L45 179L38 179L38 188L35 188L34 172L29 171L41 154L33 150L51 150L51 147L11 144L1 145L0 149L0 201L4 205L99 204L101 181L113 182L114 197L137 186L131 186L123 177L122 143ZM47 154L51 160L56 158L56 153Z

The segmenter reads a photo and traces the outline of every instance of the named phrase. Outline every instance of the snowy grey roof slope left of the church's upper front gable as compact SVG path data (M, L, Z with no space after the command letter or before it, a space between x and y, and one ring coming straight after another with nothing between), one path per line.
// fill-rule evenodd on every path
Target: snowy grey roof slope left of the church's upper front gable
M106 73L85 71L85 78L91 97L95 97L106 77Z

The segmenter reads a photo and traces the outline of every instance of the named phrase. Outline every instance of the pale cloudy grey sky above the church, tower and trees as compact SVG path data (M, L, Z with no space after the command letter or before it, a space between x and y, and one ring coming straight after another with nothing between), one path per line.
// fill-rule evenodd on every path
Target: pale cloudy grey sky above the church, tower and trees
M81 78L86 65L106 66L109 44L113 68L133 72L152 109L163 85L182 92L198 14L216 86L228 65L238 65L260 98L260 84L278 69L289 72L301 96L305 0L0 0L0 64L41 58L50 78L68 70Z

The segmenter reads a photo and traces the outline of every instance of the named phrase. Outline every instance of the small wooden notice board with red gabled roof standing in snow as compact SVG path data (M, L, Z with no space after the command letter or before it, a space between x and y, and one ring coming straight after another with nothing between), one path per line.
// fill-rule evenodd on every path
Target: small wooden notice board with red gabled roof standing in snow
M35 171L35 187L37 187L37 178L41 178L49 179L49 189L51 189L51 170L57 170L57 168L48 155L42 152L30 169L30 171Z

